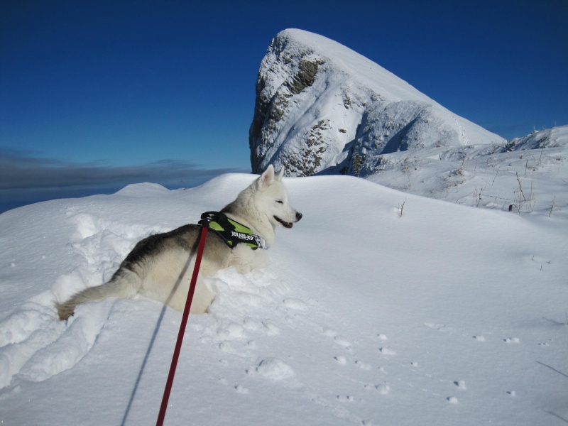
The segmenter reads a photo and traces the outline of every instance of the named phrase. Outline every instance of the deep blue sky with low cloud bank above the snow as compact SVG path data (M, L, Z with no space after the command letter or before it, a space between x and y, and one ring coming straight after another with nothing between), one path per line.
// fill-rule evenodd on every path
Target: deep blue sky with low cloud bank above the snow
M324 35L500 134L568 124L568 1L0 3L0 212L248 173L258 66Z

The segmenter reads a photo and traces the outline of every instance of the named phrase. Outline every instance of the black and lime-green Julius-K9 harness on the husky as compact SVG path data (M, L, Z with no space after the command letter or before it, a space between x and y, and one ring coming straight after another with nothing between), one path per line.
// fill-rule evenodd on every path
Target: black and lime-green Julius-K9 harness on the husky
M244 224L229 219L224 213L205 212L201 215L199 224L214 231L231 249L234 249L237 244L245 244L253 250L268 249L263 237L255 234Z

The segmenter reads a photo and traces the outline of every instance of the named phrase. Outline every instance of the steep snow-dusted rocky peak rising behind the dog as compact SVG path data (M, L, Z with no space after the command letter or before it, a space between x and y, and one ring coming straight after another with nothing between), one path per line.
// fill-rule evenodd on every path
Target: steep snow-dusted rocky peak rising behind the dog
M366 177L388 153L501 141L320 35L282 31L261 62L249 133L254 173L272 163L290 176Z

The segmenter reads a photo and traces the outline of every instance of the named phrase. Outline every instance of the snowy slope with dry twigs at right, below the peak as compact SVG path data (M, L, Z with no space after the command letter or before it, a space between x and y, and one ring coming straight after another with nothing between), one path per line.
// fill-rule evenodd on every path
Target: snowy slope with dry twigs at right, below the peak
M384 155L368 180L471 207L537 215L568 207L568 126L501 145L431 148Z

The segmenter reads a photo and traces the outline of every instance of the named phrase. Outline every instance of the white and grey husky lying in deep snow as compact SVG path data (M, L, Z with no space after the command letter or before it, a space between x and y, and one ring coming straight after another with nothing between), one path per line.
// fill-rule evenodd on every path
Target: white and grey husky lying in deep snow
M258 244L261 248L253 249L253 244L237 243L231 247L221 234L209 231L200 277L214 275L219 269L229 266L234 266L239 273L248 273L268 265L268 256L262 248L274 244L275 227L291 228L302 219L302 214L288 203L288 191L282 183L283 174L284 169L275 174L273 166L269 165L258 179L220 212L237 222L241 229L250 231L256 241L261 241ZM131 298L138 294L163 302L176 310L183 310L195 265L200 231L200 225L189 224L139 241L109 282L86 288L72 295L69 300L57 303L60 320L67 320L81 303L104 300L107 297ZM244 236L250 238L249 234ZM214 296L212 290L198 278L191 312L207 312Z

